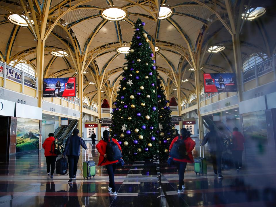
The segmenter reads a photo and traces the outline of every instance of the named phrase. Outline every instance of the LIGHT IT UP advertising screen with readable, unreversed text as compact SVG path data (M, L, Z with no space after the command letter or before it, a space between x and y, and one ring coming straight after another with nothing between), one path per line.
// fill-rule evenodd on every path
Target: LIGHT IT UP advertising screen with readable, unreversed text
M76 78L44 78L43 97L75 97Z

